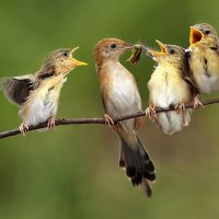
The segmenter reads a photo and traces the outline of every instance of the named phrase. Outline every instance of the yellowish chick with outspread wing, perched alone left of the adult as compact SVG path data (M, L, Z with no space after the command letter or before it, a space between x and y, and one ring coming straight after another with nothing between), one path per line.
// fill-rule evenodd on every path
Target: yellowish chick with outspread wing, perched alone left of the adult
M28 126L48 120L48 128L55 126L59 95L68 73L77 66L87 66L72 58L77 48L61 48L53 51L35 74L3 78L0 88L5 96L20 106L23 123L20 131L24 135Z

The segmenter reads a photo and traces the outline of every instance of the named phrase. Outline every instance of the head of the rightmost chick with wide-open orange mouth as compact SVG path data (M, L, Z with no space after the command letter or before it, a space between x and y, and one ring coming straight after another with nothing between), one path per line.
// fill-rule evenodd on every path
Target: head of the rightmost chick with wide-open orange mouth
M191 26L189 43L191 47L214 47L218 45L218 35L216 30L209 24L195 24Z

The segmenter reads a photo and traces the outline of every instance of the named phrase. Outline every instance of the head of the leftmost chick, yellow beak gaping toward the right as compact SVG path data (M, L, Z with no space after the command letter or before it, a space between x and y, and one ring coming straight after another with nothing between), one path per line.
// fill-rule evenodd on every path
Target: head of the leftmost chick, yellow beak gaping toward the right
M60 48L54 50L49 54L47 59L44 61L44 71L55 71L55 74L67 76L71 70L78 66L87 66L88 64L79 61L72 58L73 53L78 49L76 48Z

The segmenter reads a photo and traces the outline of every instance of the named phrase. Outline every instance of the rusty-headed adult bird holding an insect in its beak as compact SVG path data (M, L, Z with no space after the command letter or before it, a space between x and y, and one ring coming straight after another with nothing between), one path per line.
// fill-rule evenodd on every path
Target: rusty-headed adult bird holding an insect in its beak
M114 125L112 118L141 111L141 99L134 76L119 62L119 57L135 45L118 38L105 38L94 50L95 68L101 83L105 120L113 125L120 140L119 165L126 169L132 185L141 185L147 196L152 195L150 182L155 180L154 166L136 129L140 118Z

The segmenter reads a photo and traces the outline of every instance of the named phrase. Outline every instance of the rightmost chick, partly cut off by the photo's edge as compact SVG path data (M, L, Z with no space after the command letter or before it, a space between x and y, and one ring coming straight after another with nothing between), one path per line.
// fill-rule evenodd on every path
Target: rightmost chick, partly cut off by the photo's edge
M186 49L189 68L200 92L219 90L219 42L216 30L206 23L191 26Z

